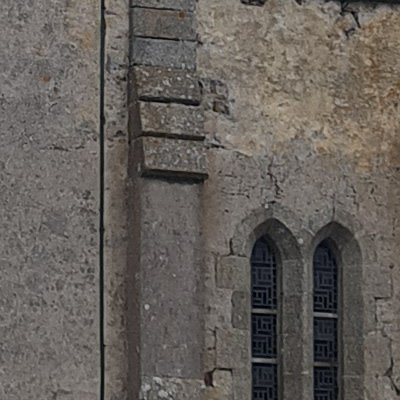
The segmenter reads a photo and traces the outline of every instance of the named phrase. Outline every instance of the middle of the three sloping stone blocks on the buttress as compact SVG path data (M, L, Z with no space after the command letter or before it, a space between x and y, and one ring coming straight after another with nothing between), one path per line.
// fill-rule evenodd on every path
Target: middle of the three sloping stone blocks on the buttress
M142 134L165 135L186 139L204 137L202 109L182 104L141 102L140 119Z

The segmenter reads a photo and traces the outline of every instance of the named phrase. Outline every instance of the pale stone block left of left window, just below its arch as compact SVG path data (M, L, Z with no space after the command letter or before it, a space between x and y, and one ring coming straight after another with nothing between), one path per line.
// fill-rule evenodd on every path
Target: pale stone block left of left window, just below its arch
M250 292L250 262L246 257L221 258L216 272L217 286Z

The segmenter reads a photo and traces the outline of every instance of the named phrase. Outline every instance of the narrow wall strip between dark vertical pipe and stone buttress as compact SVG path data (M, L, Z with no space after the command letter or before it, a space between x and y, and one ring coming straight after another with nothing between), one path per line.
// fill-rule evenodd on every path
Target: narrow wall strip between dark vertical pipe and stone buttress
M127 400L129 378L135 379L128 368L126 323L129 4L106 0L105 9L105 400Z

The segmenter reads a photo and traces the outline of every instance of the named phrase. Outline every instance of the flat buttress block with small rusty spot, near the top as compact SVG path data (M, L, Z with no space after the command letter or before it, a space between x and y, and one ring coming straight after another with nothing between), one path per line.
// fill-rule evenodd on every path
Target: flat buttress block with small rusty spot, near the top
M196 40L195 19L190 11L134 8L132 18L134 36Z

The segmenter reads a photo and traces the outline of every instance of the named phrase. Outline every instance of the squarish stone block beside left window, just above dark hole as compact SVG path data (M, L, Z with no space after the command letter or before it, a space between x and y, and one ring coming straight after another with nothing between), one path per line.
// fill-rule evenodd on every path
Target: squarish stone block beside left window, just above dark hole
M250 334L239 329L217 329L217 368L244 368L250 364Z

